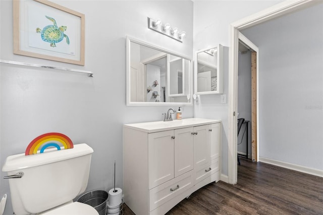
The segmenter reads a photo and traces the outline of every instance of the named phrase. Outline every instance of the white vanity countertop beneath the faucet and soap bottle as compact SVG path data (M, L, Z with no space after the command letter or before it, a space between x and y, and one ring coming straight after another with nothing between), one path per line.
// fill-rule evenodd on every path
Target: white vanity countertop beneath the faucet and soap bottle
M182 120L173 120L169 122L156 121L156 122L125 124L124 127L147 132L147 133L153 133L153 132L159 132L159 131L167 131L170 129L179 129L179 128L200 126L200 125L219 123L219 122L221 122L221 120L187 118Z

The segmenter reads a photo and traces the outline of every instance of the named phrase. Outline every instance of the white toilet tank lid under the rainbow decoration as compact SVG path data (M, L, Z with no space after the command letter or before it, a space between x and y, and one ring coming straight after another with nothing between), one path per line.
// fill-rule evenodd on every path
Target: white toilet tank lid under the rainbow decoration
M25 153L21 153L8 156L2 171L9 172L22 170L93 153L93 149L86 143L75 144L73 148L69 149L64 149L64 146L61 148L61 150L49 148L45 149L43 153L32 155L25 155Z

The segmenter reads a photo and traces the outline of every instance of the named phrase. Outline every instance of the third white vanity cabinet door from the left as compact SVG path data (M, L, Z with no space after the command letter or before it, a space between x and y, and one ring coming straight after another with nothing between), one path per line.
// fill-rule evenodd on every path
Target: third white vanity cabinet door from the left
M194 168L210 162L208 125L194 127Z

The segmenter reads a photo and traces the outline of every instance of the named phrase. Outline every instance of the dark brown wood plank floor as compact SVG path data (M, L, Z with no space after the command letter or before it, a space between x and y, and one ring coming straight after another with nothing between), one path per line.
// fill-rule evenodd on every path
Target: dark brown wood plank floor
M167 215L323 214L323 178L240 160L236 185L222 181L208 184ZM125 205L124 214L134 213Z

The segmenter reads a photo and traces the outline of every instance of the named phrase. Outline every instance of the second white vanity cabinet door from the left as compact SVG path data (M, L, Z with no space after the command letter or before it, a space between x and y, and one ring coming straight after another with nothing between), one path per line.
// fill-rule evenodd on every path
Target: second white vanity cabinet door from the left
M175 133L175 177L193 170L193 127L176 129Z

